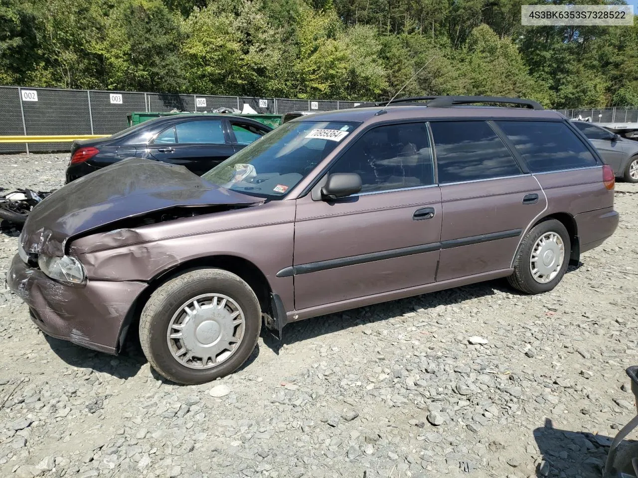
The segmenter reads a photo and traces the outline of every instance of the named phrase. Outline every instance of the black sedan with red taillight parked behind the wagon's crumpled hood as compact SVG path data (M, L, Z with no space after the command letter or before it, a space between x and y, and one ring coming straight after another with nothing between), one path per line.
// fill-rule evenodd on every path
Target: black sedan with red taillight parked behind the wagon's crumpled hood
M256 120L230 115L174 115L147 120L97 140L76 140L66 182L127 157L181 164L197 175L272 131Z

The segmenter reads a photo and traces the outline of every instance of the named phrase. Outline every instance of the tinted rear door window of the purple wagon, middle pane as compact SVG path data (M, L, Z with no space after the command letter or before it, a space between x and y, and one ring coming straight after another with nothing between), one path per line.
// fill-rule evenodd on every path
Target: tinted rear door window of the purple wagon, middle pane
M440 184L521 174L503 141L485 121L430 123Z

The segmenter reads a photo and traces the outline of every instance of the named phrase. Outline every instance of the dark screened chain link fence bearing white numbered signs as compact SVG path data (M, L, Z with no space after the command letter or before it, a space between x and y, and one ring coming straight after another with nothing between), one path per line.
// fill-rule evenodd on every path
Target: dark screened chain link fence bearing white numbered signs
M327 111L353 108L353 101L244 98L193 94L64 90L0 87L0 136L54 134L113 134L128 127L133 112L211 112L220 107L260 114ZM1 153L66 151L70 143L0 144Z

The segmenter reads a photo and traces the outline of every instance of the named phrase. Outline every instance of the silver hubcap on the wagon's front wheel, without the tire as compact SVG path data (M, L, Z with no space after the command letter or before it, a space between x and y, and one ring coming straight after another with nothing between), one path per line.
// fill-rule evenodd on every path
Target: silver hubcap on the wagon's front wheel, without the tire
M185 302L168 324L168 349L188 368L212 368L228 360L244 338L246 319L223 294L202 294Z

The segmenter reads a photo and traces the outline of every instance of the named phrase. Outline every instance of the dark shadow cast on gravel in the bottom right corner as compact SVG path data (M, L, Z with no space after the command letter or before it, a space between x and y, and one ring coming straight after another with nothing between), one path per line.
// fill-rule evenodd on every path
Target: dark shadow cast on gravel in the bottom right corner
M536 428L533 434L542 455L536 467L538 478L548 474L600 478L613 440L605 435L554 428L549 418L545 418L545 426Z

